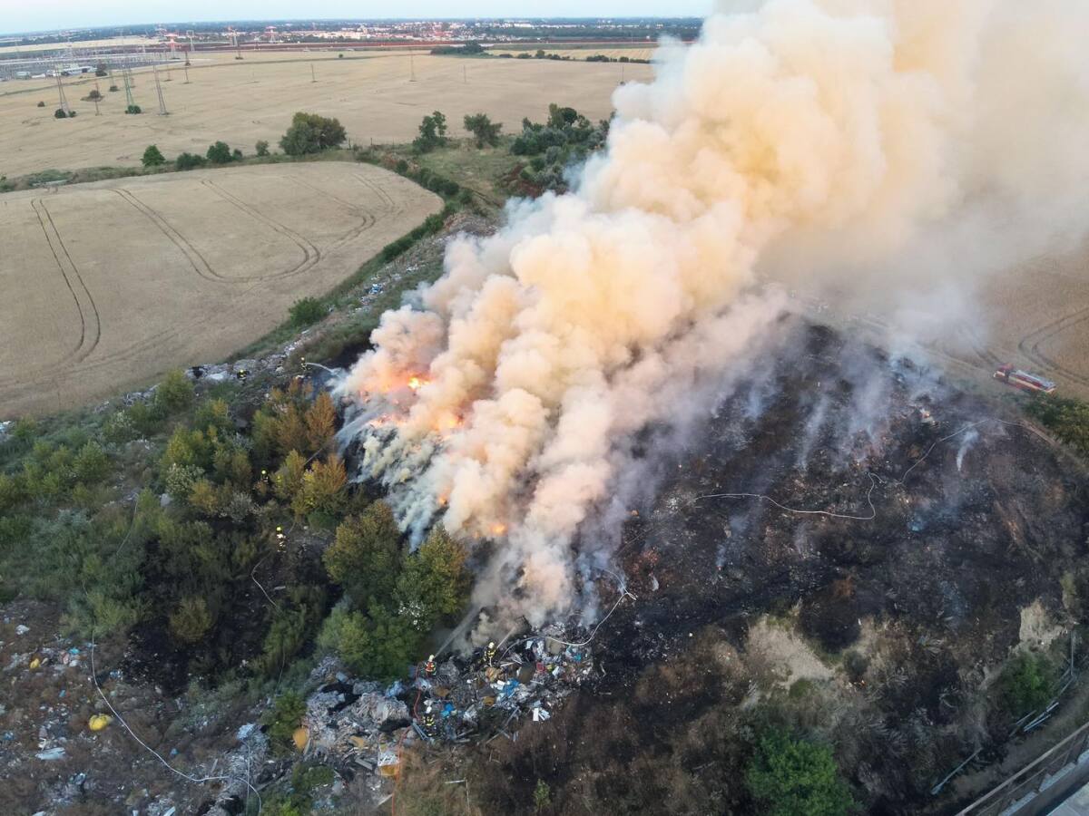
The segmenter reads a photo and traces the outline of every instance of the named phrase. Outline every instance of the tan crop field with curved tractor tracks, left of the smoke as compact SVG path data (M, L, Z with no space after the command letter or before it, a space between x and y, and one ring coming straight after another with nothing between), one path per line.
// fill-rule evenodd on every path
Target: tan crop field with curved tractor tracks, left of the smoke
M0 416L223 359L441 207L405 178L344 162L4 195Z

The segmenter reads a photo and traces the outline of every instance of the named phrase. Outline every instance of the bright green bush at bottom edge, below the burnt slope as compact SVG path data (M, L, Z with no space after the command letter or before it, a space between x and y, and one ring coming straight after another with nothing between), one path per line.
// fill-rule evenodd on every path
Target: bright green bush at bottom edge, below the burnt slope
M844 816L855 809L832 750L781 730L760 738L745 783L769 816Z

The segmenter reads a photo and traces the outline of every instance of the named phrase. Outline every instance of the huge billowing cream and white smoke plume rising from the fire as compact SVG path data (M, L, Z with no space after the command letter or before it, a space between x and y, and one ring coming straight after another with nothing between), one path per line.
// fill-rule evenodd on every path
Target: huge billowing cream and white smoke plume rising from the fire
M749 369L787 304L769 281L933 334L1082 234L1087 24L1080 0L722 3L615 91L571 194L454 239L382 318L340 386L363 474L417 537L495 542L478 605L570 610L643 487L633 435Z

